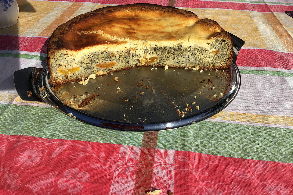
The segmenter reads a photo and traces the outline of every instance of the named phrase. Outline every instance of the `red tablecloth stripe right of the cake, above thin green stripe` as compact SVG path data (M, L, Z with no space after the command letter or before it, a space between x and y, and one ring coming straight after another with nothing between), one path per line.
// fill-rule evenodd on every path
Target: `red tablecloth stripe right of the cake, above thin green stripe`
M266 49L241 49L237 66L293 69L293 54Z

